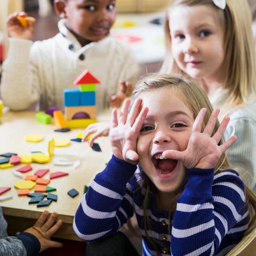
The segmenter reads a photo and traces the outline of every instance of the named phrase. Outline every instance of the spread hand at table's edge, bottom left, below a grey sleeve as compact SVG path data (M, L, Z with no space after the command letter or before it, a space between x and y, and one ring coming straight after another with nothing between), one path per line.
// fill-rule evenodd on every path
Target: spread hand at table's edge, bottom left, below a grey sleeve
M60 226L62 225L62 221L58 220L54 224L58 217L57 212L53 212L50 218L47 220L48 216L49 212L44 211L36 221L35 225L25 230L25 232L30 233L37 237L41 244L40 252L50 247L62 247L61 243L51 241L50 239L51 236L60 228Z

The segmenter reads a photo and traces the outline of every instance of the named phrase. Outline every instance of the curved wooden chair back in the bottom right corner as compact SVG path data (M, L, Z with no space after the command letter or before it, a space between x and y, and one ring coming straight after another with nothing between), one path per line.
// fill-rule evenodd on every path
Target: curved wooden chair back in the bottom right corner
M254 209L253 221L250 223L248 229L252 228L249 233L245 234L242 241L237 244L226 256L256 256L256 195L249 191L249 202Z

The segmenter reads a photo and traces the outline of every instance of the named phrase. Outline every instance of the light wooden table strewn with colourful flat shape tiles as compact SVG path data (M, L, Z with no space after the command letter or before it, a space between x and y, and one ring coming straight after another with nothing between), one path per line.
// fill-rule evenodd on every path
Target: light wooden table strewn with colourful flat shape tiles
M103 113L98 117L99 121L109 120L109 112ZM41 124L35 121L34 111L22 112L7 112L1 118L3 124L0 125L0 154L11 152L18 155L31 154L31 151L47 152L48 141L51 138L76 138L78 132L83 129L73 129L70 132L60 133L54 132L54 125ZM25 141L25 135L31 133L38 133L44 137L42 142L32 143ZM31 227L35 223L35 219L39 217L42 211L49 210L50 212L57 211L59 219L63 220L63 226L54 237L78 240L75 235L72 223L76 209L81 202L84 186L89 186L95 175L105 168L105 164L111 157L111 148L108 137L97 139L102 152L93 151L88 143L79 143L70 141L70 145L64 148L55 148L55 157L65 157L70 161L79 159L81 164L77 169L73 166L55 166L53 158L46 164L31 163L33 170L26 174L34 174L38 169L50 168L50 172L63 171L68 172L69 175L53 179L48 186L57 188L53 194L58 195L58 202L52 202L48 207L37 208L35 204L28 204L29 197L18 197L14 184L21 180L15 177L12 170L23 166L17 166L0 169L0 187L11 187L12 189L4 195L12 195L13 199L0 202L2 206L4 217L9 223L9 230L11 231L24 231L26 228ZM44 178L49 179L49 173L45 174ZM25 175L26 175L25 174ZM79 191L79 195L75 198L68 196L67 191L75 188ZM34 191L31 190L31 191Z

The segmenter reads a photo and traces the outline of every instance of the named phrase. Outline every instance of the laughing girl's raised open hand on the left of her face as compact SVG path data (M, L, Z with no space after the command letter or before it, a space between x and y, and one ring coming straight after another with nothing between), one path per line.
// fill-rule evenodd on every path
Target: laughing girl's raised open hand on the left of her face
M141 109L141 102L141 99L136 99L128 113L130 99L126 99L119 118L116 109L112 112L109 135L113 154L131 164L138 163L137 138L148 113L148 108Z

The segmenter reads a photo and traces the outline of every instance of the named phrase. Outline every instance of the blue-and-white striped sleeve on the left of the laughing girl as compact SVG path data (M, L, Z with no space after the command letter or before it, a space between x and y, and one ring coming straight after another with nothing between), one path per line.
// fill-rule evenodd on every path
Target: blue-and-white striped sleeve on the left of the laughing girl
M136 165L121 161L115 156L106 169L93 180L82 197L73 228L85 241L96 241L116 233L133 215L132 202L126 183L137 169Z

